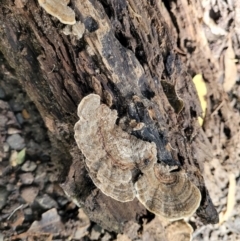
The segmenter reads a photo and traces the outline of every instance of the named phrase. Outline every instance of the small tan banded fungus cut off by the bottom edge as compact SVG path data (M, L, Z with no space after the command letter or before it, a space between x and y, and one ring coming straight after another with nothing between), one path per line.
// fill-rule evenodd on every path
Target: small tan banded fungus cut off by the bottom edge
M183 220L171 223L165 230L167 240L191 241L193 228Z

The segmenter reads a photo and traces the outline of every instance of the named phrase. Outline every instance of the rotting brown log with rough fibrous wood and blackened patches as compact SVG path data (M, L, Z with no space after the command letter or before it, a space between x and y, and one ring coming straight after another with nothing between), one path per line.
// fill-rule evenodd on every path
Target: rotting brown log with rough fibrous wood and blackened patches
M77 105L90 93L117 110L117 125L128 135L155 143L161 164L184 170L202 195L197 214L204 222L218 221L202 177L211 150L197 123L201 108L161 4L72 0L69 7L84 24L82 37L66 36L66 26L36 0L22 1L24 7L3 0L0 6L0 50L52 131L59 150L53 161L62 179L69 171L66 191L92 220L117 232L146 210L136 199L120 203L105 196L88 177L73 125ZM69 152L72 163L62 157Z

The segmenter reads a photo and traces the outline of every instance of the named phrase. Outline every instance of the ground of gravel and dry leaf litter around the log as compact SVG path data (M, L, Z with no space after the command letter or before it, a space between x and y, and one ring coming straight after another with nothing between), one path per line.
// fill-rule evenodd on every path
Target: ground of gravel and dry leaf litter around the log
M215 24L205 19L214 61L222 66L220 75L234 80L223 83L226 94L218 103L211 99L214 89L208 94L203 129L213 158L204 164L204 178L220 222L204 225L190 218L195 241L240 240L240 23L234 15L240 6L234 10L231 3L208 1ZM234 61L227 61L228 56ZM199 61L194 58L190 54L182 60ZM56 170L41 116L3 56L0 68L0 240L161 240L154 238L157 231L150 231L158 227L150 213L139 225L130 223L129 230L117 234L91 222L67 198L52 178Z

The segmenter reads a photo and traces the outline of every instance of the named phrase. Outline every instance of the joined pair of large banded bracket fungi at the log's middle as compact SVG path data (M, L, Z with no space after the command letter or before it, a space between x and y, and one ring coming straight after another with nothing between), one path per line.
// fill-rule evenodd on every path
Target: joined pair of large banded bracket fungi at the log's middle
M117 111L90 94L78 106L75 140L94 184L120 202L135 197L169 221L190 217L199 207L199 189L183 170L157 162L155 143L143 141L116 124Z

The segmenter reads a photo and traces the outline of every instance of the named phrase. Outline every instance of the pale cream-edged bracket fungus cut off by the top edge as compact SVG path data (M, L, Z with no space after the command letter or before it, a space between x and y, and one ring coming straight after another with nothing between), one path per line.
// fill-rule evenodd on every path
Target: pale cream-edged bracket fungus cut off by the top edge
M56 17L61 23L73 25L76 23L75 12L67 6L66 0L38 0L44 10Z

